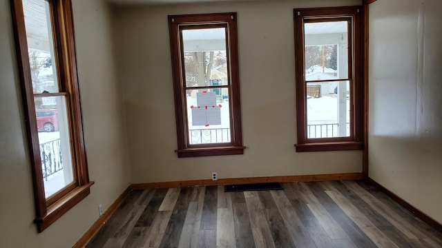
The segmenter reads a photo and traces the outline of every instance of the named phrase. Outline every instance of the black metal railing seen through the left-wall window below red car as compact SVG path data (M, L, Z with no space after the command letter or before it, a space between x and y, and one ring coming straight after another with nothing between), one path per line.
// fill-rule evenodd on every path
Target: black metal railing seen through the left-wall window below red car
M63 169L63 160L61 158L60 139L40 144L41 169L43 178L48 180L48 176L55 174Z

